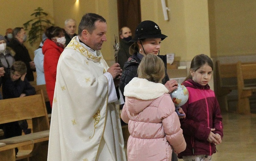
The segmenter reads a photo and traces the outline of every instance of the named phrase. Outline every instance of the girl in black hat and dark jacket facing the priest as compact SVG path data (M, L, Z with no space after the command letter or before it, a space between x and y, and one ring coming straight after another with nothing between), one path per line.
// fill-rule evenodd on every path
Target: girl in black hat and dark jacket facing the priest
M122 77L120 79L119 88L123 94L124 100L124 88L132 78L138 77L137 70L141 62L141 59L148 53L157 55L160 50L160 44L163 39L167 36L161 33L159 26L150 20L142 21L136 28L135 36L130 41L133 44L129 48L129 53L132 55L127 62L124 64ZM171 93L177 88L177 81L170 80L165 70L165 78L162 79L162 84ZM183 110L179 109L180 113L184 113ZM179 118L185 118L185 116L179 116ZM177 155L172 155L172 161L177 161Z

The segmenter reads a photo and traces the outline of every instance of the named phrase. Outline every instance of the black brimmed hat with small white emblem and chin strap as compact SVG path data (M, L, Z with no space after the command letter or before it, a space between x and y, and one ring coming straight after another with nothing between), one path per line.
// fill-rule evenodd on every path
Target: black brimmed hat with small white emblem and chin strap
M159 26L155 22L146 20L139 23L135 30L135 36L130 42L137 42L139 39L144 38L161 38L163 40L166 37L161 33Z

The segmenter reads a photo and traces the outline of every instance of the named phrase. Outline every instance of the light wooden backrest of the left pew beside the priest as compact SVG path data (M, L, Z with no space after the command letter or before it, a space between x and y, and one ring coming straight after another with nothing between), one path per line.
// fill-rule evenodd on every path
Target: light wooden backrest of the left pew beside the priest
M43 95L3 99L0 100L0 107L0 124L32 119L34 132L49 130Z

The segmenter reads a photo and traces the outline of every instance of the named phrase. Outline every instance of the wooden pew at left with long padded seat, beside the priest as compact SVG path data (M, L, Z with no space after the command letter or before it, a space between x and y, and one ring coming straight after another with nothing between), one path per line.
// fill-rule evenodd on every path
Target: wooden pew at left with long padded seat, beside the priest
M33 129L31 134L0 140L0 143L6 144L0 147L1 161L47 160L50 126L42 90L39 93L33 96L0 100L0 124L32 119ZM15 148L28 145L32 145L31 152L15 158Z

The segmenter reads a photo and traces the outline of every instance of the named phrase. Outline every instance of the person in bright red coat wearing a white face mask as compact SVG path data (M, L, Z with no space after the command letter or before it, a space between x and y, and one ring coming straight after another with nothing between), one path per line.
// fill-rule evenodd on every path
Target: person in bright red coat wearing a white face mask
M66 47L65 30L60 27L51 26L46 29L47 39L42 46L44 54L44 77L46 91L52 107L53 95L56 82L57 64L60 54Z

